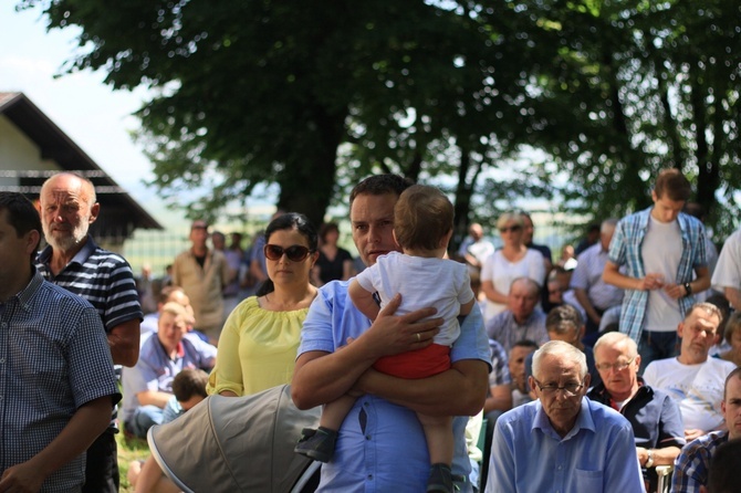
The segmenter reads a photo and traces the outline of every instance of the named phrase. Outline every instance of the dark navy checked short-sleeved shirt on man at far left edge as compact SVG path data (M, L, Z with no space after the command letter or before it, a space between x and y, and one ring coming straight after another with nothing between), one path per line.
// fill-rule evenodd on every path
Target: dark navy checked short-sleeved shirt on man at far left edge
M43 280L0 304L0 474L28 461L94 399L121 399L101 318L90 303ZM82 453L43 483L80 491Z

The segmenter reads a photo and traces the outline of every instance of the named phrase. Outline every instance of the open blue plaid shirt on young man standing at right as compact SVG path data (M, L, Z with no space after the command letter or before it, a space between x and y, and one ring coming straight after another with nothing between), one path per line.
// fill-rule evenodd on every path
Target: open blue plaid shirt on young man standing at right
M646 276L640 254L641 243L648 230L648 218L653 208L627 216L617 223L613 241L609 243L609 261L616 265L625 265L625 274L630 277ZM705 227L691 216L680 212L677 217L681 233L682 253L677 270L677 283L692 281L693 270L708 264L706 253ZM681 316L695 303L693 296L678 300ZM625 290L623 311L620 313L620 332L627 334L636 343L640 342L644 318L648 306L648 291Z

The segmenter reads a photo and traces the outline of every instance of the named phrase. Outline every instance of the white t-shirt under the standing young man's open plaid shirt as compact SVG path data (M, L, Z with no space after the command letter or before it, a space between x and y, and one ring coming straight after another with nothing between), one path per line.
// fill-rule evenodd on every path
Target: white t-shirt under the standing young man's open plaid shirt
M679 223L676 220L660 222L649 216L640 255L646 274L660 273L666 283L676 283L682 255ZM681 312L677 300L672 300L664 290L648 292L645 331L675 332L680 322Z

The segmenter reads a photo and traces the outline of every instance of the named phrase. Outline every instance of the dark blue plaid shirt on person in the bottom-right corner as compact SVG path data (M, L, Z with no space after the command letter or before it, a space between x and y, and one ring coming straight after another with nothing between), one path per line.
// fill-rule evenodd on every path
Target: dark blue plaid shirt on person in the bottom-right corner
M710 461L716 450L728 441L728 431L712 431L689 442L675 460L671 493L699 493L708 483Z

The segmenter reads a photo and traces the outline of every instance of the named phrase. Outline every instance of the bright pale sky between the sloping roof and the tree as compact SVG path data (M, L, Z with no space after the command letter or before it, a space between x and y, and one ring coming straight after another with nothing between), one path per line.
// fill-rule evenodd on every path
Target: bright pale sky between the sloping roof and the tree
M15 11L15 0L0 1L0 92L22 92L119 186L160 223L181 218L167 211L144 179L152 164L134 144L132 116L146 93L112 91L104 74L77 72L54 77L75 46L75 28L46 32L41 9Z

